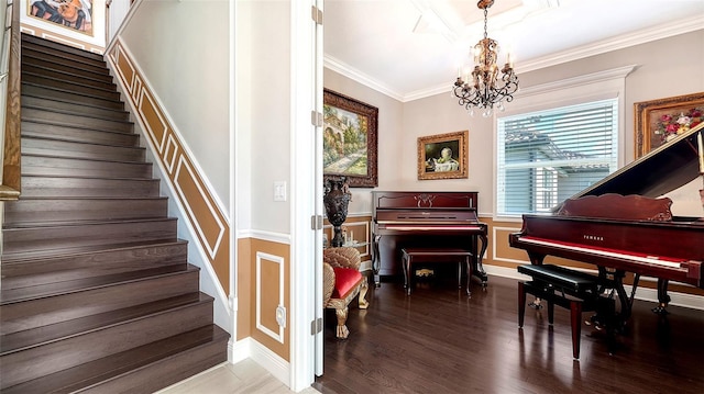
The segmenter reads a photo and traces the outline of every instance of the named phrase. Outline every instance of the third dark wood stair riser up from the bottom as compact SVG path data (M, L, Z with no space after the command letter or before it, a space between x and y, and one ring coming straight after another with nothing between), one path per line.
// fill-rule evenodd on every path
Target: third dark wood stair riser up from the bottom
M8 335L198 291L198 270L189 270L18 302L0 306L0 329Z

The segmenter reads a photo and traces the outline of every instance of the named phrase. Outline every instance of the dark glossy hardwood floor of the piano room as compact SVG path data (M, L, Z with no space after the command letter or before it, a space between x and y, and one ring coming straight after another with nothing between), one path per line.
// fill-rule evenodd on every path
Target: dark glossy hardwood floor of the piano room
M527 308L519 329L512 279L472 283L470 297L452 280L410 296L383 282L367 300L366 311L352 302L346 340L326 315L322 393L704 393L704 311L670 306L659 325L654 304L636 301L613 354L605 334L583 325L574 361L569 311L556 307L550 327L547 309Z

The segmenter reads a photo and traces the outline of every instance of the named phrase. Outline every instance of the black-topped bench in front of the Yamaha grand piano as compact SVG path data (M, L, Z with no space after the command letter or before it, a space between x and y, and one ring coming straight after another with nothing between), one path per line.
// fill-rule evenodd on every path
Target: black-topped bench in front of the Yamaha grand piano
M598 303L598 278L564 267L519 266L518 272L532 277L532 281L518 282L518 327L524 326L526 294L548 303L548 323L554 320L554 305L570 309L572 326L572 357L580 359L582 312L596 311Z

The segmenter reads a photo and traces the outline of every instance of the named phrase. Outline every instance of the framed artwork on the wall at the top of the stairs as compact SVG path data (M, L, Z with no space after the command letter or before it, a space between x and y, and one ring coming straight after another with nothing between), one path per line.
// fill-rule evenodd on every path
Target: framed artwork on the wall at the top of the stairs
M94 0L28 0L26 14L92 37Z

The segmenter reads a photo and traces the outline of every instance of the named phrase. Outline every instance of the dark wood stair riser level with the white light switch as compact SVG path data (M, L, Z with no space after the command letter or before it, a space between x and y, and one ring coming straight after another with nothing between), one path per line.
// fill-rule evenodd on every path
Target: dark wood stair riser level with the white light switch
M160 195L158 180L23 177L22 195L85 198L154 198Z

